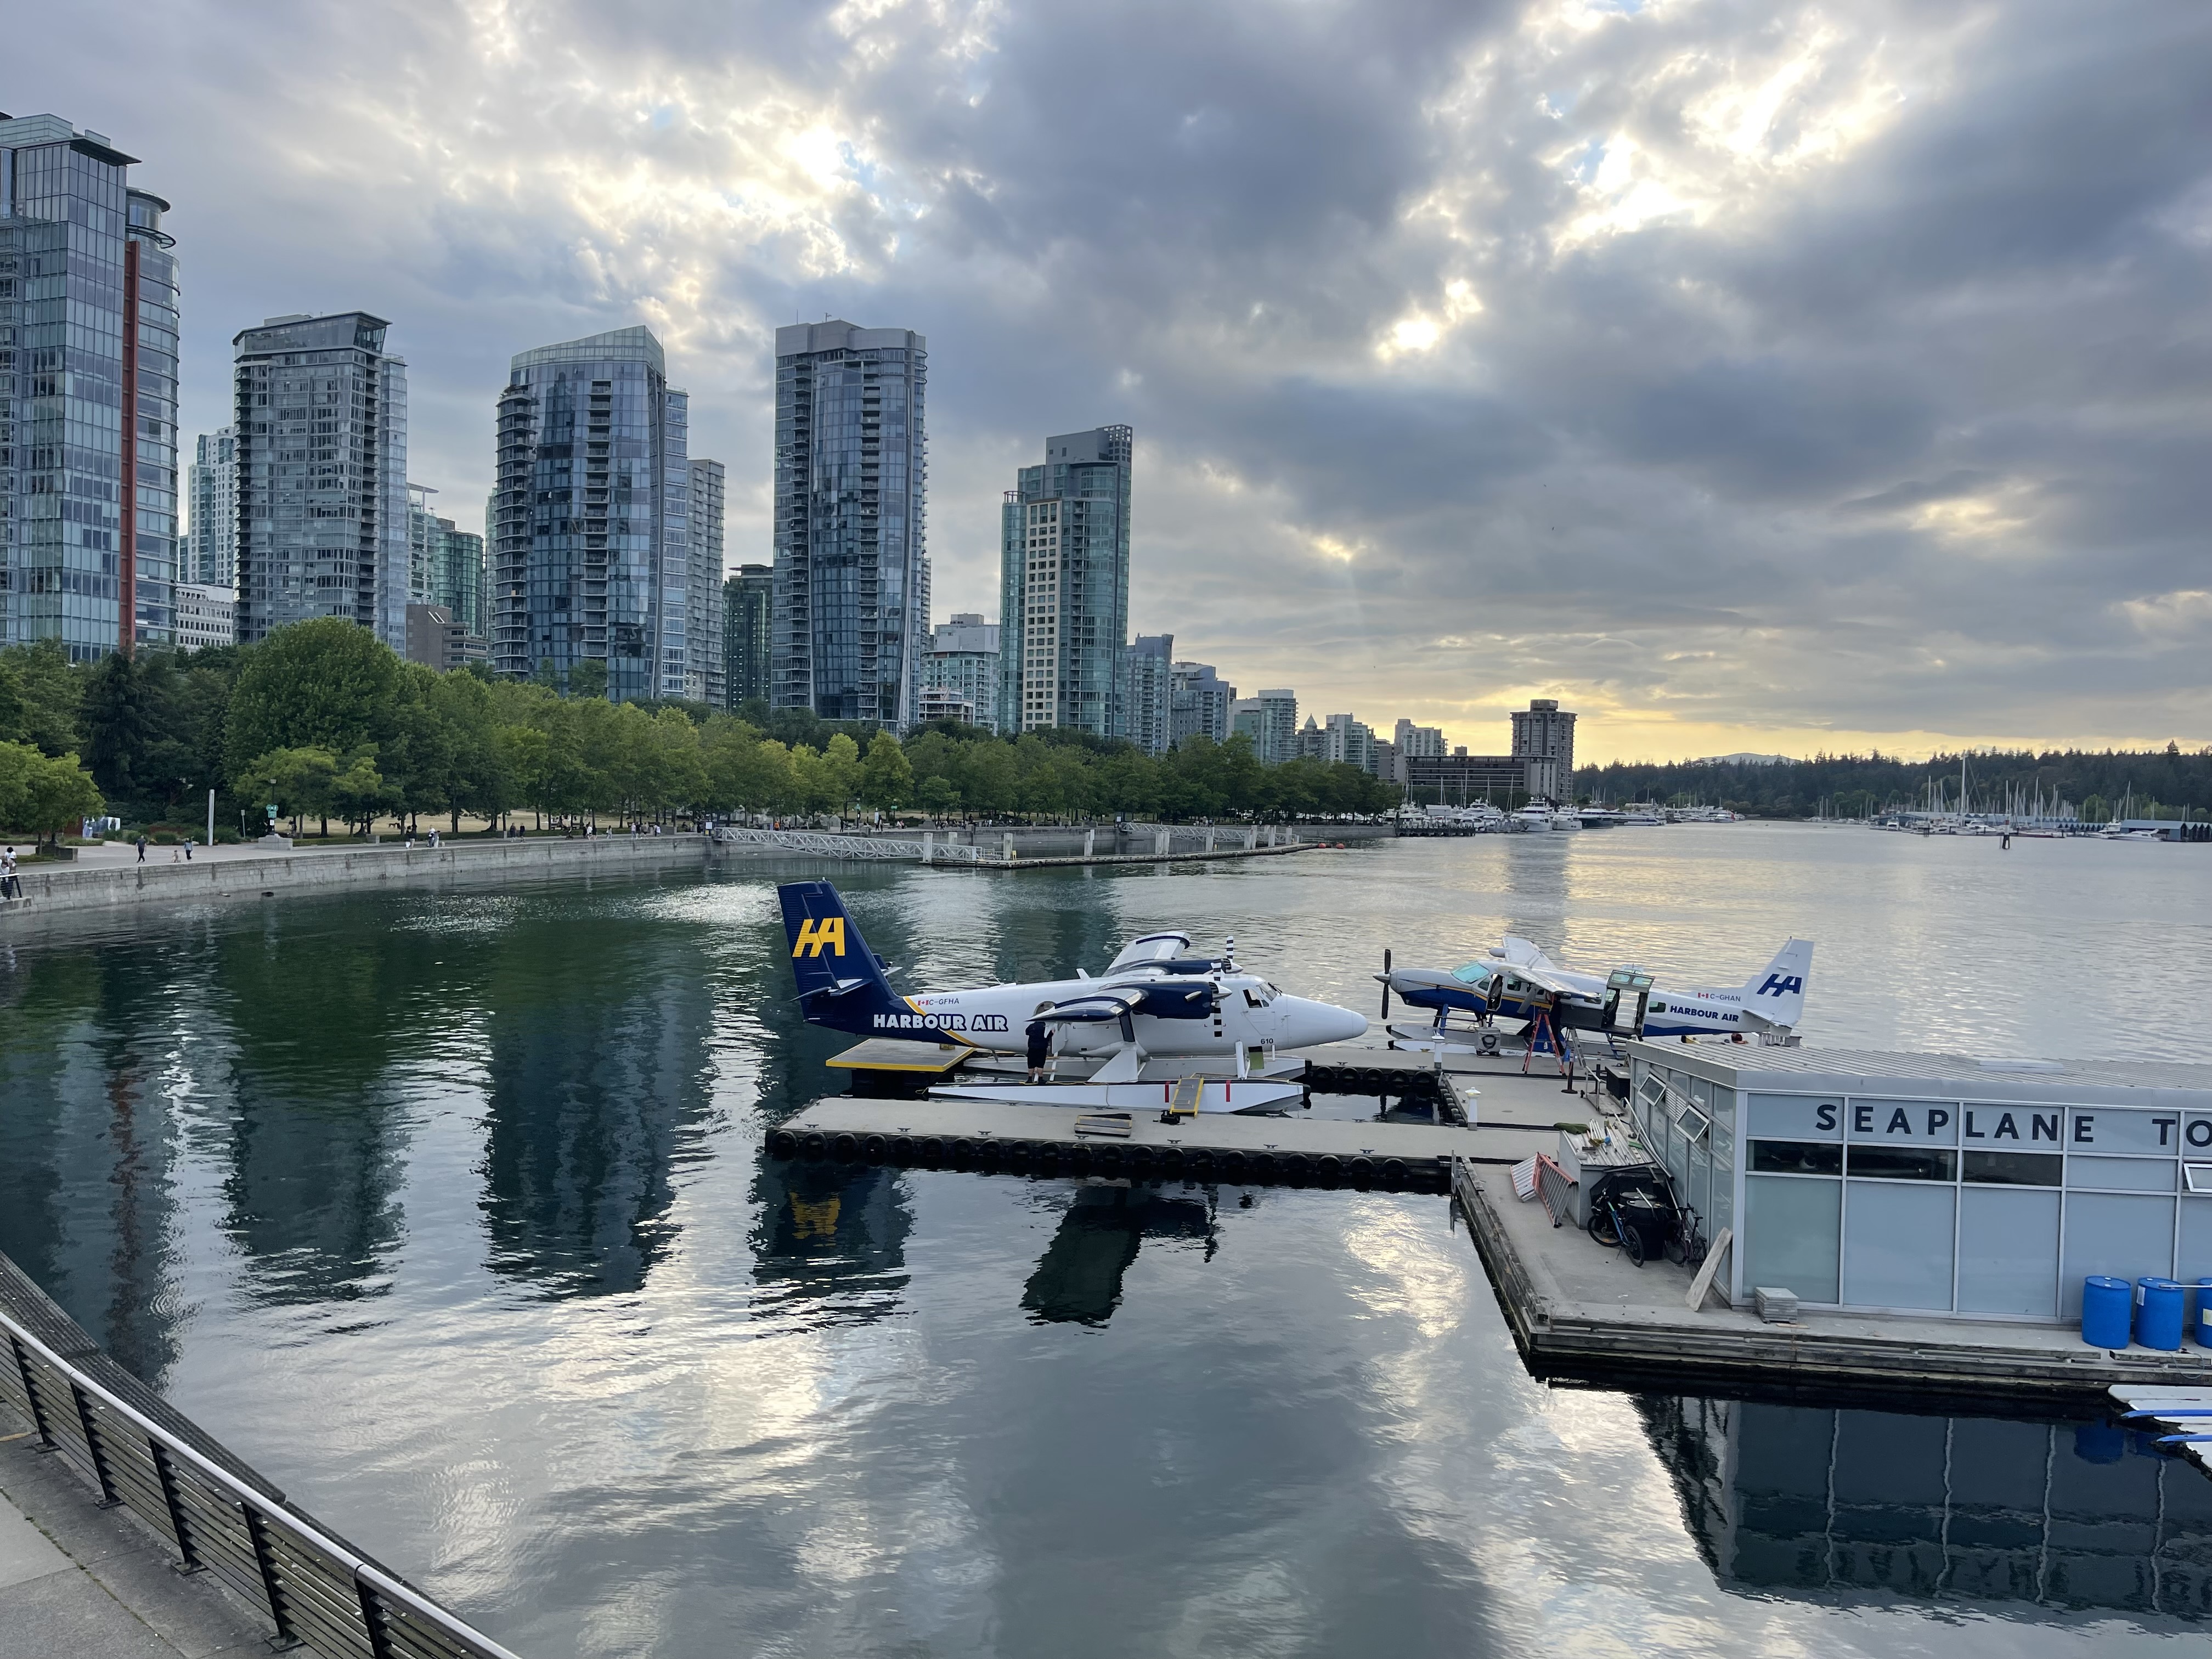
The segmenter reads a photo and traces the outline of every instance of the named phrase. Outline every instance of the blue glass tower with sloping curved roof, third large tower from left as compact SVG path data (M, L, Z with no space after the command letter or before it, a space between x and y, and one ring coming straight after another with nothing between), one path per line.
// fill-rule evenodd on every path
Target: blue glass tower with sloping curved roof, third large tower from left
M606 664L615 701L684 697L690 396L644 327L542 345L500 394L491 498L491 666L557 684Z

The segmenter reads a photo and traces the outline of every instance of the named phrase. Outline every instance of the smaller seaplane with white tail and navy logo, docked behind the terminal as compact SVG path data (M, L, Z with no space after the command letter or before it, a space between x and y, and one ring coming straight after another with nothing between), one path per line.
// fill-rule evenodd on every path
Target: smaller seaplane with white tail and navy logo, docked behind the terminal
M1376 978L1385 987L1385 1024L1389 1024L1389 998L1396 993L1411 1009L1433 1011L1436 1026L1422 1035L1436 1042L1447 1040L1455 1013L1473 1018L1478 1026L1522 1020L1524 1035L1533 1035L1540 1015L1553 1033L1582 1029L1644 1037L1790 1035L1805 1013L1812 940L1790 940L1743 984L1692 991L1661 989L1637 967L1606 975L1575 973L1513 933L1493 945L1482 960L1458 969L1385 967Z

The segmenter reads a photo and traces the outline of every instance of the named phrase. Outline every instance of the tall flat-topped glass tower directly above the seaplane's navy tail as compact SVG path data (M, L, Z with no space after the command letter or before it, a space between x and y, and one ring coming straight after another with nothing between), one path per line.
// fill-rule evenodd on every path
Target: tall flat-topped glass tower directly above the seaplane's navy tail
M914 721L929 644L927 369L911 330L776 330L776 708Z

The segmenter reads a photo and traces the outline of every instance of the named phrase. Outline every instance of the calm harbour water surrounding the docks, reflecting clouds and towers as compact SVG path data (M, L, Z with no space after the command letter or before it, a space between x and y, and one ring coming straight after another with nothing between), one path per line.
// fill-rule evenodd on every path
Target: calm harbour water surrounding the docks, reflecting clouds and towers
M0 1250L524 1655L2148 1652L2212 1482L2097 1425L1546 1389L1436 1197L785 1166L772 867L0 956ZM1374 1009L1504 929L1807 1040L2212 1060L2212 858L1794 825L838 872L914 987L1164 925Z

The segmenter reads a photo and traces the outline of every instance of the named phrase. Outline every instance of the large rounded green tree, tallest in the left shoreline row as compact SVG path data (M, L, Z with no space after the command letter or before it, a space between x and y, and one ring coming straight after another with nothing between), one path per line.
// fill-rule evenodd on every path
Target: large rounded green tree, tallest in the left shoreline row
M270 750L352 754L392 741L400 659L367 628L312 617L246 653L230 692L226 752L241 774Z

